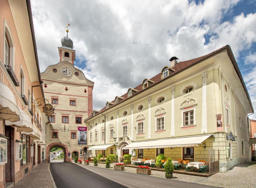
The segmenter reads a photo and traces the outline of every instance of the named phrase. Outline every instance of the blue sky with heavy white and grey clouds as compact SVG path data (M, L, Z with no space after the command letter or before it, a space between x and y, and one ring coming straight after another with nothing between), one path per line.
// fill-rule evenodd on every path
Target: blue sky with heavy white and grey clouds
M31 0L40 70L59 62L61 38L94 82L93 109L184 61L230 45L256 109L256 0ZM256 113L249 116L256 119Z

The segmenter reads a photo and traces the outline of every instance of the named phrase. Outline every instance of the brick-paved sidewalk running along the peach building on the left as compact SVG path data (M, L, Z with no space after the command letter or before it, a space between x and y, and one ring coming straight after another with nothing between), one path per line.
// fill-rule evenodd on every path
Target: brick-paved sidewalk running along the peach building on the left
M50 163L44 161L27 173L13 188L57 188L50 172Z

